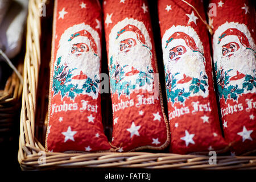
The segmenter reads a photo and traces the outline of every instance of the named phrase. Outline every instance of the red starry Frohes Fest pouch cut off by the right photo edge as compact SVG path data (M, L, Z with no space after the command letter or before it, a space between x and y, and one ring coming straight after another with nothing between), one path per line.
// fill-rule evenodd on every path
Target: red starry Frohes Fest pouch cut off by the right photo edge
M255 10L252 1L219 2L209 2L217 5L209 17L215 73L224 136L240 155L256 149Z

